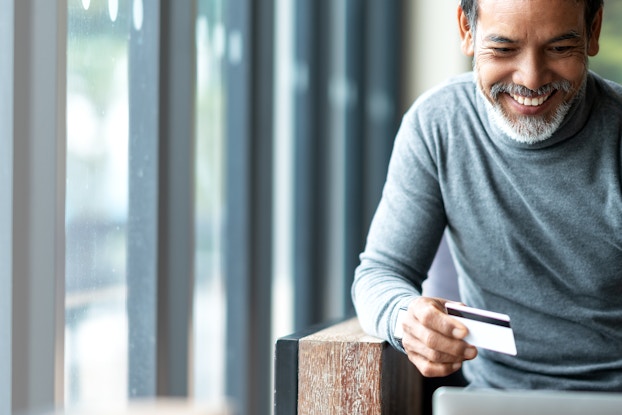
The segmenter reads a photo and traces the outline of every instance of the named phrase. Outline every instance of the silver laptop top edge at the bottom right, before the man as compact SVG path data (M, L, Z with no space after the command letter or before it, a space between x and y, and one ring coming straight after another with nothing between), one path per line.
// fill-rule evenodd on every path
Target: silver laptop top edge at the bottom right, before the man
M441 387L433 415L620 415L622 393Z

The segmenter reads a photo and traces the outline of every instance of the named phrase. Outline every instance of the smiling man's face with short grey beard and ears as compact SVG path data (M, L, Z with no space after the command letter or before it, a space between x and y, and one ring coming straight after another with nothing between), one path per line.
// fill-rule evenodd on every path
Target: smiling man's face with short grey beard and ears
M479 88L493 118L518 141L550 137L580 93L602 18L588 39L584 10L576 0L479 0L474 31L459 10Z

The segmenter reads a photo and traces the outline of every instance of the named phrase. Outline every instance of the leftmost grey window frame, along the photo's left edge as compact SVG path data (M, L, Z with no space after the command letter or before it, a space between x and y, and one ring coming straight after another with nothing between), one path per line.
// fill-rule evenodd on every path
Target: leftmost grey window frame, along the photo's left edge
M3 1L12 21L3 24L0 71L13 86L3 86L11 98L0 115L3 158L11 158L0 179L8 203L2 256L10 257L2 263L10 335L0 340L0 364L9 372L1 386L10 413L54 407L63 397L67 6Z

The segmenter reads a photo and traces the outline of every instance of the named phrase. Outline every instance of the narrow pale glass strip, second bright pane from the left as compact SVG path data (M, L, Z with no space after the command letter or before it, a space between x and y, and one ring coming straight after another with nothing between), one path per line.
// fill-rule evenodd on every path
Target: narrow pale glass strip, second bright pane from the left
M225 292L222 276L225 0L199 0L196 125L196 289L194 394L224 396Z

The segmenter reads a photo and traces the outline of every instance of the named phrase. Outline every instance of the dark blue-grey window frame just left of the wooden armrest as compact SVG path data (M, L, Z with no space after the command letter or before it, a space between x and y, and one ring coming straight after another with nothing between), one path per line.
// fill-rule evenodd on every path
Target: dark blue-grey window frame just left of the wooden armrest
M272 368L274 0L227 0L225 393L269 413Z

